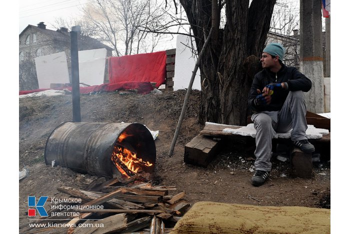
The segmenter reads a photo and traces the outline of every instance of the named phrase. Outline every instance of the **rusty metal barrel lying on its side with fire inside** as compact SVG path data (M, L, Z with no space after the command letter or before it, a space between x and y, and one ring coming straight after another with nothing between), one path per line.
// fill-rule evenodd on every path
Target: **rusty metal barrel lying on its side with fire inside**
M155 163L152 134L139 123L64 122L56 127L45 145L46 165L68 167L80 173L112 177L116 167L111 160L113 147L121 133L138 158Z

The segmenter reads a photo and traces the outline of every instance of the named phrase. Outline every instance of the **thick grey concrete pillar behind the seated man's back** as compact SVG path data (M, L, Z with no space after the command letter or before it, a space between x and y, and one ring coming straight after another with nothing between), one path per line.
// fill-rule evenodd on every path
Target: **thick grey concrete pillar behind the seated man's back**
M312 81L305 101L313 113L324 111L321 17L321 1L300 0L300 72Z

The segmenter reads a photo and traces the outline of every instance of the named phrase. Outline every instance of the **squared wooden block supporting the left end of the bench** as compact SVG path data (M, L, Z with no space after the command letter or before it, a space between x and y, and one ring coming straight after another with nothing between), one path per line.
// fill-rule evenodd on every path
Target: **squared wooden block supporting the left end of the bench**
M184 146L185 163L206 167L216 156L219 142L203 135L197 135Z

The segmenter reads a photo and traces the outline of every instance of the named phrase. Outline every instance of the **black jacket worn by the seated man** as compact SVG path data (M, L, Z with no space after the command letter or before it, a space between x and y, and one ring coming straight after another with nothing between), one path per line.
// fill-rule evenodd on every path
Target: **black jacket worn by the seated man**
M255 106L254 99L258 95L256 89L262 91L262 89L269 83L282 82L287 82L288 90L274 91L271 95L271 103L269 105L261 104L259 106ZM303 92L307 92L310 89L310 79L308 79L294 67L287 67L282 64L281 69L277 73L270 72L269 69L263 69L256 73L253 83L251 84L248 97L248 106L252 113L260 111L279 111L282 108L289 91L301 90Z

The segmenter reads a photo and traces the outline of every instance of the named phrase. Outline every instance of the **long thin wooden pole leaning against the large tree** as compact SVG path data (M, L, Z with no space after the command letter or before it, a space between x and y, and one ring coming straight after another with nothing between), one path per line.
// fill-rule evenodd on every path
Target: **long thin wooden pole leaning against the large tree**
M180 131L182 120L183 120L183 117L184 117L184 114L185 114L185 111L186 111L188 97L189 97L189 94L190 94L190 92L192 90L194 77L195 77L195 74L197 73L197 70L198 70L198 67L199 67L199 63L200 63L201 58L203 57L204 51L206 49L206 46L208 45L208 42L209 42L209 39L210 39L210 36L211 36L211 32L212 32L212 28L210 29L208 37L205 39L203 48L201 49L200 54L199 54L198 59L197 59L197 62L195 63L194 70L192 72L192 76L191 76L191 79L190 79L189 84L188 84L187 92L186 92L186 95L184 97L180 118L178 119L178 123L177 123L177 127L176 127L176 130L175 130L175 134L174 134L174 137L172 138L170 150L169 150L169 152L167 154L169 157L172 156L172 152L174 150L175 143L176 143L176 140L177 140L177 137L178 137L178 132Z

